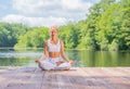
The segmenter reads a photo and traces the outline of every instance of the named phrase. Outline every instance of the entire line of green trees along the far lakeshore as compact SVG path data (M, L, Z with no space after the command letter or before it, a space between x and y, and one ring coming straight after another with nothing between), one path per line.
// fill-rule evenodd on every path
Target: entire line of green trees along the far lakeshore
M60 26L66 49L130 50L130 0L101 0L78 23ZM0 23L0 48L42 48L49 28Z

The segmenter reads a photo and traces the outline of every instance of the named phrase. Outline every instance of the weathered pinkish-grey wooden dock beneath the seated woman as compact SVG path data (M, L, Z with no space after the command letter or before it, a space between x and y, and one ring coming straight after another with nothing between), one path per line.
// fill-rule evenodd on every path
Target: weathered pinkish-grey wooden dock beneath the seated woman
M0 89L130 89L130 67L0 67Z

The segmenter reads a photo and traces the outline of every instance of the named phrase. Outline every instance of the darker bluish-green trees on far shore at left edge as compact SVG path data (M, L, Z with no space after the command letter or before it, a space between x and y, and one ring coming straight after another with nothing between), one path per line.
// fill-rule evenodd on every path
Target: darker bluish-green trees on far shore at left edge
M22 24L0 23L0 48L14 47L17 38L26 34L30 28Z

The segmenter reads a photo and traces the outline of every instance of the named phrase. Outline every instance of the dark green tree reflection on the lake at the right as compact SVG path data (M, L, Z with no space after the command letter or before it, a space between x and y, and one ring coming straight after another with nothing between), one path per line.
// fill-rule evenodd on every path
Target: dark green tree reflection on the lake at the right
M129 52L82 50L79 53L82 66L130 66Z

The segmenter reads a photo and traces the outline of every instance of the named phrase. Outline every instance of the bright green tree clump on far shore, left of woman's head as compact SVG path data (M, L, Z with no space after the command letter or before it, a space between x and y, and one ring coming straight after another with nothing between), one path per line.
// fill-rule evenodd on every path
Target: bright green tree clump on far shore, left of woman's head
M49 38L49 29L47 27L34 27L32 30L20 36L16 48L42 48L43 42Z

